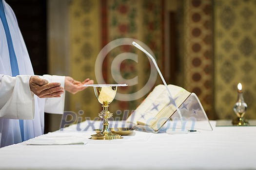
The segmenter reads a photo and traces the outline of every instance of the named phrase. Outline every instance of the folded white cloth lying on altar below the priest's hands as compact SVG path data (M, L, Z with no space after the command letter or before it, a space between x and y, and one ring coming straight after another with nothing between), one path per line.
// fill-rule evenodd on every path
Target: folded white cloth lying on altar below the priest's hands
M85 145L86 143L86 137L71 133L48 133L22 142L25 145Z

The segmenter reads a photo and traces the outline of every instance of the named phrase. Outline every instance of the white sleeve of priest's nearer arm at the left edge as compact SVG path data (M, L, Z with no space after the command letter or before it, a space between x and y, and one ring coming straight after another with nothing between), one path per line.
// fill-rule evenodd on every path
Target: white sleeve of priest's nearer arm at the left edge
M0 118L34 119L34 95L29 75L11 77L0 74Z

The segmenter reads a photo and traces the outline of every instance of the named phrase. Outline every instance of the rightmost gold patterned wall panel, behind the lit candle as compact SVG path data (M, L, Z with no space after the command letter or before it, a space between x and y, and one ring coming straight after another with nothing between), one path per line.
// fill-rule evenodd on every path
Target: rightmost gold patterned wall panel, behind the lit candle
M217 114L235 117L240 82L248 104L245 117L256 119L256 0L216 0L214 9Z

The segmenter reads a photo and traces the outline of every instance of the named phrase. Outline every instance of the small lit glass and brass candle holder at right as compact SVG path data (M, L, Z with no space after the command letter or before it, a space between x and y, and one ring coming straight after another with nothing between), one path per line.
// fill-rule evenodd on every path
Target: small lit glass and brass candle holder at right
M244 102L242 85L240 83L237 85L237 92L238 96L233 108L237 117L232 120L232 124L238 126L247 126L249 125L249 122L247 119L244 118L244 114L247 109L247 104L246 102Z

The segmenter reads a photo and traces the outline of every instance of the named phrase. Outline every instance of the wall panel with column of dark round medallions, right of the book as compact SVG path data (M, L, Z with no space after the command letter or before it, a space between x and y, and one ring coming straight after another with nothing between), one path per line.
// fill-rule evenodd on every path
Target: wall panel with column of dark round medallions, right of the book
M213 107L212 0L184 0L183 2L184 88L197 94L209 119L216 119Z

